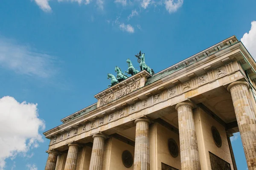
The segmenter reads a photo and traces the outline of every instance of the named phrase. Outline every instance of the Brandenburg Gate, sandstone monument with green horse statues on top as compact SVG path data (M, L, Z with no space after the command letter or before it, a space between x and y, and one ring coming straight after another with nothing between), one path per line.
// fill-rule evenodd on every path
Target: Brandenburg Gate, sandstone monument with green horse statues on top
M145 54L136 57L125 73L108 74L95 104L44 133L45 170L237 170L236 132L256 170L256 62L241 41L232 36L156 74Z

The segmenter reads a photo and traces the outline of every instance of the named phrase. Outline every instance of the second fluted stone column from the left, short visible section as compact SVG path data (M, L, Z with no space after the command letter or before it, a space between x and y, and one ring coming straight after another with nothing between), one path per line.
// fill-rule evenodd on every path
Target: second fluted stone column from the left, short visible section
M68 144L67 159L64 170L76 170L79 144Z

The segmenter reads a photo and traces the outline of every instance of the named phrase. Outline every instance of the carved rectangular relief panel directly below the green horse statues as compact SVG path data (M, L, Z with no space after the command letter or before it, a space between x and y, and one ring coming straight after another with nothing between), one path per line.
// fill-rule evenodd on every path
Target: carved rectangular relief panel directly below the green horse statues
M134 82L131 85L126 86L125 88L122 88L108 96L103 97L102 99L100 99L100 106L108 104L115 99L119 99L120 97L125 96L126 94L129 94L137 90L138 88L140 88L140 81Z

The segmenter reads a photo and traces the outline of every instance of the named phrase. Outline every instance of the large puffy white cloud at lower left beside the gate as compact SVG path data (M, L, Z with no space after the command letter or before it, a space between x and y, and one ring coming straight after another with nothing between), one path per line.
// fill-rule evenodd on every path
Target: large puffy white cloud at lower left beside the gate
M5 159L26 154L43 142L38 130L44 130L45 124L38 116L37 104L19 103L10 96L0 99L0 170L5 167Z

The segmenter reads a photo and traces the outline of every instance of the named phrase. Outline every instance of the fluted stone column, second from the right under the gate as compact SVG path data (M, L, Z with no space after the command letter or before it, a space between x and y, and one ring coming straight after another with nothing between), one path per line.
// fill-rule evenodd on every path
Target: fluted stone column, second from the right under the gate
M193 104L181 102L175 108L178 111L181 170L201 170L192 113Z

